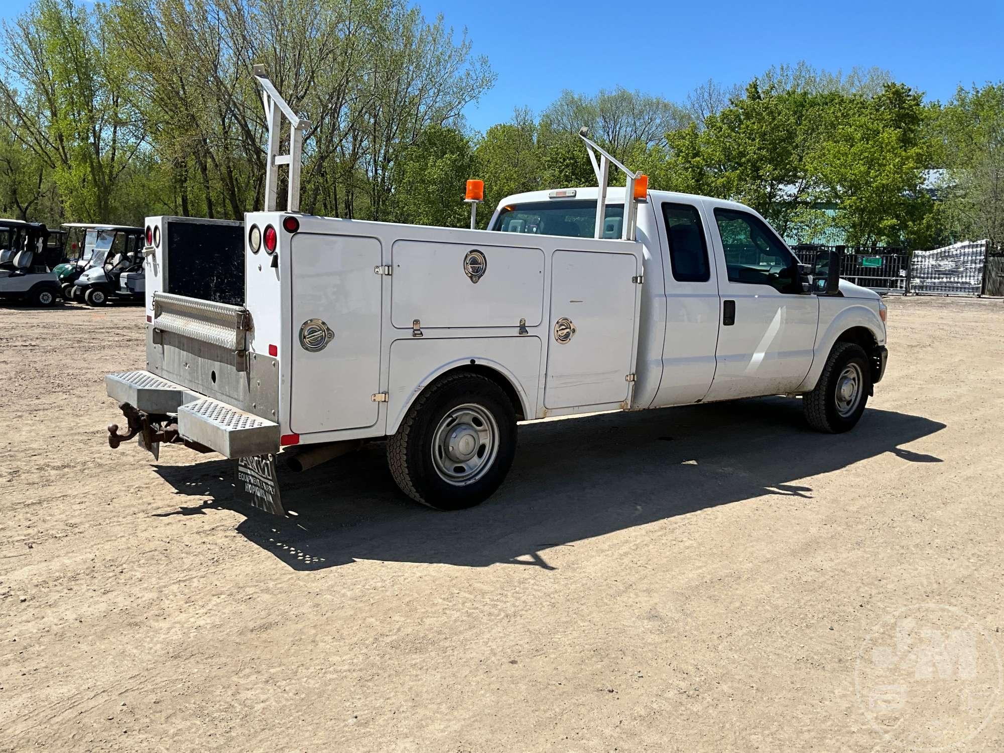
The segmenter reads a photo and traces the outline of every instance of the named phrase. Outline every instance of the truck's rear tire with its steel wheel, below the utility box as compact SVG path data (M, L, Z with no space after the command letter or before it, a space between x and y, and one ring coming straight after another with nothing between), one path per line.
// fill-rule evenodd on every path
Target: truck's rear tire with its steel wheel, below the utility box
M437 510L462 510L488 499L515 454L512 403L494 382L467 372L445 376L420 395L387 443L398 486Z

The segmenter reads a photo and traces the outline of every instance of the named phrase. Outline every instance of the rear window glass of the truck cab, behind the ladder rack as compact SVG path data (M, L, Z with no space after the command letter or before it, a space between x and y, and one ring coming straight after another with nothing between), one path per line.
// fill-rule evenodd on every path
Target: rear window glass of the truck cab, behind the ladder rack
M619 238L623 205L607 204L603 215L603 238ZM592 238L596 228L596 202L546 201L503 207L492 230L503 233L563 235Z

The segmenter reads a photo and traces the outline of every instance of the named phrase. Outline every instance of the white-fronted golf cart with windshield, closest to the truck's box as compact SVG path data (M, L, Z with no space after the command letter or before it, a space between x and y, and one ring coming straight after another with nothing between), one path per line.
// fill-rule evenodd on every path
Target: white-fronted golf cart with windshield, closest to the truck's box
M109 298L143 300L143 245L140 228L96 228L90 258L70 289L73 300L91 306L103 306Z

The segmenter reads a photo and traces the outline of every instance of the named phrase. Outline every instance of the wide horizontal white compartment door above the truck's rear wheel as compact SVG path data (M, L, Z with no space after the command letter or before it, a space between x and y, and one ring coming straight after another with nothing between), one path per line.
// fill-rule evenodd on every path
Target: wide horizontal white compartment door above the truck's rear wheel
M518 327L520 319L526 326L540 323L544 252L539 248L401 240L392 259L395 327L411 329L415 319L423 329Z

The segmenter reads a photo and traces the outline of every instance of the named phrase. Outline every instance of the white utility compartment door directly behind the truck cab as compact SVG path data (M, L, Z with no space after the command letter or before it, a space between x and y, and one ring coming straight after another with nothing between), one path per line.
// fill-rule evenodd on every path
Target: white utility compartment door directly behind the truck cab
M545 408L628 399L641 273L634 254L554 252Z

